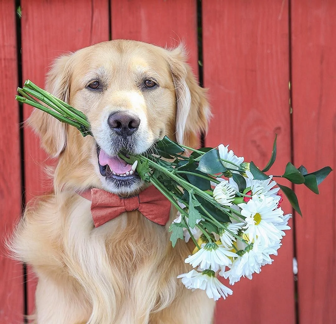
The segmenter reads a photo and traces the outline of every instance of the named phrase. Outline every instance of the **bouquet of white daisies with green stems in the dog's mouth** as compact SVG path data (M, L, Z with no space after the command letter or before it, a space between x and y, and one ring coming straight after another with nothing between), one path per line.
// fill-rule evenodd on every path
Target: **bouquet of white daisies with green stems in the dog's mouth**
M18 88L16 100L51 114L76 127L83 136L92 135L86 116L30 80ZM189 154L190 153L190 154ZM314 193L332 171L330 167L310 172L290 162L281 176L267 175L277 155L277 138L267 165L260 170L253 161L236 156L228 145L193 149L164 137L150 151L131 156L119 153L136 165L142 180L158 188L178 211L169 231L173 247L178 239L193 240L195 249L185 259L193 269L181 274L188 289L203 289L209 298L224 299L233 292L217 275L234 285L241 277L252 279L271 255L277 255L291 214L281 208L282 193L301 215L294 191L278 184L286 178L304 184Z

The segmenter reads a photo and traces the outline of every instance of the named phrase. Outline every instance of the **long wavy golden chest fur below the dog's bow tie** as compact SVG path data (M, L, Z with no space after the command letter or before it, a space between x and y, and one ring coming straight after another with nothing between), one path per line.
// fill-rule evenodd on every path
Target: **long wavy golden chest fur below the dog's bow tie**
M172 249L168 228L138 211L94 228L90 202L64 192L41 200L26 213L24 224L22 244L17 242L22 259L38 275L73 285L71 290L80 292L78 302L88 303L84 309L97 309L92 314L99 318L93 323L143 316L145 323L150 313L166 308L185 289L176 276L187 270L186 245ZM32 237L33 232L40 235ZM27 240L35 241L35 251L26 249ZM34 262L42 255L43 264Z

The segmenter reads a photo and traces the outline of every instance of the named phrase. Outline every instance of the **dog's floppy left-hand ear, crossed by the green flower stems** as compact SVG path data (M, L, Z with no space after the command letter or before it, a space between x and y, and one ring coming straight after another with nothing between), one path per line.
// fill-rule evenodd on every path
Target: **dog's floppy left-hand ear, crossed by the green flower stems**
M56 59L47 74L46 91L69 103L71 54ZM41 146L52 157L57 157L67 144L67 126L49 114L34 109L27 120L40 136Z

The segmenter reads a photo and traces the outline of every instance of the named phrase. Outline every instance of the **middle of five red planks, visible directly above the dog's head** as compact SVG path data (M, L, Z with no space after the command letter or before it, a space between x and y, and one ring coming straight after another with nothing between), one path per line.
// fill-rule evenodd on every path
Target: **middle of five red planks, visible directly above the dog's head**
M162 47L186 45L188 62L198 75L197 8L194 0L114 0L112 39L132 39Z

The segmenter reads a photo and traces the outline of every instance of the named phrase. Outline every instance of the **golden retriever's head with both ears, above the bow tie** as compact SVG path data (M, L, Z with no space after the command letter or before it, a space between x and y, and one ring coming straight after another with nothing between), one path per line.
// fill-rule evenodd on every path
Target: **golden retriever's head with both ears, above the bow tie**
M46 89L84 112L93 137L34 110L29 124L59 161L55 189L100 187L121 195L143 187L118 152L140 154L167 135L199 145L209 114L205 91L185 63L182 46L113 40L58 58Z

